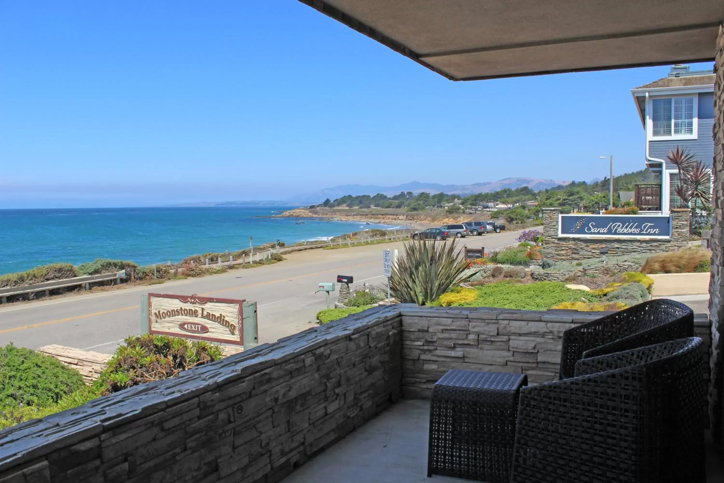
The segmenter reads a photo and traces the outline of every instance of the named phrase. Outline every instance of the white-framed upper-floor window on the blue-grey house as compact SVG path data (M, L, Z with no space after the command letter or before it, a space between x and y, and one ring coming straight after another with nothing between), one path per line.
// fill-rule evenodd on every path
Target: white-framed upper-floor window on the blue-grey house
M696 96L652 97L652 139L696 139Z

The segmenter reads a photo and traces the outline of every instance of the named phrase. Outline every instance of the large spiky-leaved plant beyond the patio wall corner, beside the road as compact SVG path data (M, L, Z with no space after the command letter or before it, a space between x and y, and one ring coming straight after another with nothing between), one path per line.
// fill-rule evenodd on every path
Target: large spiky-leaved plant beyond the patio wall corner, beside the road
M462 251L455 251L454 241L411 240L392 269L390 293L400 302L424 306L466 282L472 276L463 275L466 268L468 261Z

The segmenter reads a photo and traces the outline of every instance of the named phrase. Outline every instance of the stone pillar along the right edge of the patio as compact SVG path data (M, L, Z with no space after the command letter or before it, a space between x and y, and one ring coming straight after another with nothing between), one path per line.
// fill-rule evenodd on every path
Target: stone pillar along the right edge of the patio
M724 328L724 28L717 36L714 64L714 227L712 229L712 276L709 284L709 313L712 327L710 353L709 416L712 436L722 440L723 374L722 329Z

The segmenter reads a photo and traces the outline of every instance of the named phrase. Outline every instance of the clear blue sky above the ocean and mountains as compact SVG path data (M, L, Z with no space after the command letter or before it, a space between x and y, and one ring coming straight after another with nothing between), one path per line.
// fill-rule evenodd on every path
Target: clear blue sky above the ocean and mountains
M203 3L0 1L0 208L630 172L668 73L454 83L295 0Z

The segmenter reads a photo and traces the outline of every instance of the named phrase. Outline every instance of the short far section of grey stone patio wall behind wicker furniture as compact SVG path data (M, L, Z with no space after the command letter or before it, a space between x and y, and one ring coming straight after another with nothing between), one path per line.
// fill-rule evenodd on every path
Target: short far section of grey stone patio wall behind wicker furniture
M519 311L450 307L402 310L403 395L429 398L434 383L450 369L523 373L529 384L553 381L560 368L563 331L605 312ZM709 319L696 316L704 339L702 377L709 381Z

